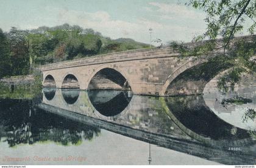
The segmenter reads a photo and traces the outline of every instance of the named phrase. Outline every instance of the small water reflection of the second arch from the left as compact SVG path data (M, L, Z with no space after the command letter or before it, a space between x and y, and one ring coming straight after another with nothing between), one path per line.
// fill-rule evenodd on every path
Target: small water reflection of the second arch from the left
M62 89L63 99L69 105L74 104L77 101L79 94L79 89Z

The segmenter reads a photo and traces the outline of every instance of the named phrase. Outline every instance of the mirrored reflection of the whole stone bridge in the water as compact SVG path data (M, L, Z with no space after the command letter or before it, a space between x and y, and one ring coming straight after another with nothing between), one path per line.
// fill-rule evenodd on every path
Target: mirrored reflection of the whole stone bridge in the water
M76 102L71 104L65 100L61 89L56 90L51 100L45 95L39 108L74 122L220 163L252 161L256 156L255 139L247 130L216 116L202 96L130 97L124 91L80 91ZM74 97L72 95L66 94ZM240 147L242 151L233 153L229 147ZM214 152L224 153L226 157L219 158L212 155Z

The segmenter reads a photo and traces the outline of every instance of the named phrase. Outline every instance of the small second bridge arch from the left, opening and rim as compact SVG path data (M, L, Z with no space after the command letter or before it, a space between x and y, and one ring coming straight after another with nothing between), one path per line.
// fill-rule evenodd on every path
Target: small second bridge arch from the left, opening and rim
M80 88L79 80L76 75L66 73L62 78L62 88Z

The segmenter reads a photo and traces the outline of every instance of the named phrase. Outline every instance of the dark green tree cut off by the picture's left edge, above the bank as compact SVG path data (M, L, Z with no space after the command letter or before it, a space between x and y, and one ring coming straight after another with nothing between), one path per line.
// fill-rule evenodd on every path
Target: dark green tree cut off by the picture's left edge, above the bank
M0 79L10 75L10 49L5 34L0 29Z

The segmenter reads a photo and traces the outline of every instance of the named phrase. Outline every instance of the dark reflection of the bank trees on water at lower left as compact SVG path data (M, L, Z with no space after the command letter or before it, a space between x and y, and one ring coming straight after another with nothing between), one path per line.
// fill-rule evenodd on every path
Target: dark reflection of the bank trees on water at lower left
M0 100L0 140L10 147L53 141L79 145L98 136L100 129L44 111L34 111L29 100Z

